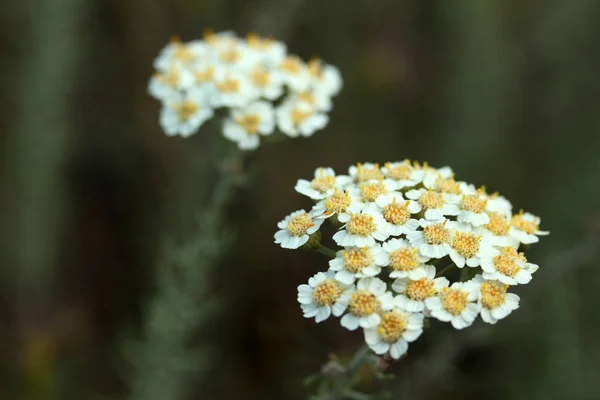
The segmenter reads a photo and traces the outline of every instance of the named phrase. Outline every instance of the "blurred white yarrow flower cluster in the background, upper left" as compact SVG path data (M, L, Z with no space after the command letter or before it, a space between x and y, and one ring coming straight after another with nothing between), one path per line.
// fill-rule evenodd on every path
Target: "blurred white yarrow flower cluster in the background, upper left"
M190 136L223 110L223 136L242 150L278 128L295 138L327 125L332 97L342 87L337 68L307 63L272 38L207 32L203 40L174 38L154 61L149 93L163 103L168 136Z

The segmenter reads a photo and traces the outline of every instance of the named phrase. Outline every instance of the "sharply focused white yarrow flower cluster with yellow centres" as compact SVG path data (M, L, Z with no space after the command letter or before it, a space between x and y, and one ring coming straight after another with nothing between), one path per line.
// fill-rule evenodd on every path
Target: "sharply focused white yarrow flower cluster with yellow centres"
M329 269L298 286L306 318L334 315L362 328L376 354L398 359L423 332L424 318L495 324L519 307L510 286L529 283L538 266L523 250L548 232L540 219L485 188L457 181L449 167L409 160L318 168L296 191L310 197L278 224L283 248L330 252ZM325 220L337 252L321 244Z

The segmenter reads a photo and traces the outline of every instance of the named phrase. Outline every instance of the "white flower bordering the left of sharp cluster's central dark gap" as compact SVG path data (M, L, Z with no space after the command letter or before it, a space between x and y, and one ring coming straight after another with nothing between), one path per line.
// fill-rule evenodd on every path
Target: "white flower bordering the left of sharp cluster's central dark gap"
M429 257L420 255L419 251L408 241L404 239L388 240L383 244L383 250L385 250L383 265L390 267L390 278L419 280L428 276L425 263L429 261Z

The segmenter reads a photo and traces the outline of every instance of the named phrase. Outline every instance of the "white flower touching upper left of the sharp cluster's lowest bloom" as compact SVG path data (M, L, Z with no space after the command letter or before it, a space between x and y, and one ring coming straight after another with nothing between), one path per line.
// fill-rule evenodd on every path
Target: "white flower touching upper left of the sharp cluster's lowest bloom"
M340 300L347 306L348 313L342 317L341 324L351 331L362 328L374 328L381 322L380 311L394 307L394 296L387 291L384 281L379 278L363 278L356 288L342 294Z

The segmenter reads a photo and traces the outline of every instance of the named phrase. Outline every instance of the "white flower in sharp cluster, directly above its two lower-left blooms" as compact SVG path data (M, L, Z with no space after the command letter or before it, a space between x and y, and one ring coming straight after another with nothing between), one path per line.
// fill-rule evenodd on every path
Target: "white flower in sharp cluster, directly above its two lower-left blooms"
M386 259L380 244L372 247L348 247L337 252L329 261L330 271L335 271L335 279L352 284L358 278L376 276Z

